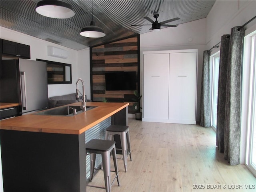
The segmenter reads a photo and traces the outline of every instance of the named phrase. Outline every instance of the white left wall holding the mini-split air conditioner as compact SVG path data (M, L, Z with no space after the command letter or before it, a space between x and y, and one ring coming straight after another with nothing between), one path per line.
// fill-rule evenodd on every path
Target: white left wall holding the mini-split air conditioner
M57 44L47 42L14 30L10 30L4 27L0 27L0 38L5 40L10 40L13 42L18 42L26 45L30 45L31 60L43 59L55 62L67 63L72 65L72 84L52 84L48 85L48 96L57 96L63 94L69 94L76 92L76 80L83 75L83 70L85 66L88 66L90 71L90 59L89 54L86 51L76 51L70 48L59 46ZM47 46L54 46L57 48L64 49L68 51L68 58L57 58L47 55ZM79 55L85 52L85 56L81 60ZM86 60L86 62L84 62ZM88 71L88 70L86 70ZM86 72L87 73L87 72ZM85 73L85 74L86 74ZM83 76L87 78L86 76ZM86 94L90 95L90 78L85 80L86 84Z

